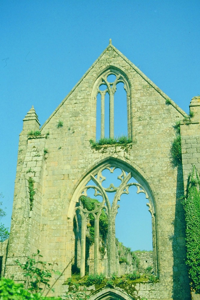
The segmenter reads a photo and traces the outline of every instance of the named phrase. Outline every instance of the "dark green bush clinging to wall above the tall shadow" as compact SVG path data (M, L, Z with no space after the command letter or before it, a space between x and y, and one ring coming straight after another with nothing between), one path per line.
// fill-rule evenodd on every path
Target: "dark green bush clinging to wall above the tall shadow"
M176 137L172 142L170 153L173 167L178 167L182 162L180 122L176 122L174 129L176 130Z

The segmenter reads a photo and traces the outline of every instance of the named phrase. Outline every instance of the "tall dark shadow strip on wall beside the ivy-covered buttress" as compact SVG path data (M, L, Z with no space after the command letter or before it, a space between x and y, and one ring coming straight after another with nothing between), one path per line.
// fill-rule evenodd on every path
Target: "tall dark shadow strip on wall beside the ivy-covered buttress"
M187 272L186 245L185 245L185 214L182 204L184 195L183 168L178 165L176 206L174 220L174 235L172 236L173 264L173 300L191 300L190 284Z

